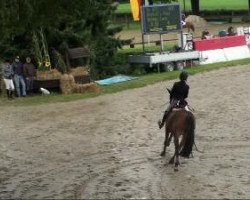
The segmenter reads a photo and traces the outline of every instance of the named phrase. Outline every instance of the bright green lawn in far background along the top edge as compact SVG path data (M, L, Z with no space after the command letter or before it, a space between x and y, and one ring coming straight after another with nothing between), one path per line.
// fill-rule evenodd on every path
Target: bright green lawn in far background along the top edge
M247 10L248 1L247 0L199 0L200 10ZM179 0L179 4L184 9L183 0ZM186 11L191 11L191 2L185 1ZM131 13L130 4L122 3L118 6L116 13L124 14Z

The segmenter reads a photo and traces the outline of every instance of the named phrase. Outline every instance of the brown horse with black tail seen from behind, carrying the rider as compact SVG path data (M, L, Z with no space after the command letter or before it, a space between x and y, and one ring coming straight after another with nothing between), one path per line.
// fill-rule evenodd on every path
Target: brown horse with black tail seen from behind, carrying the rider
M185 108L173 109L165 122L165 141L161 156L166 153L166 147L170 145L174 137L175 153L169 163L175 160L175 171L178 171L179 155L189 158L194 145L195 117Z

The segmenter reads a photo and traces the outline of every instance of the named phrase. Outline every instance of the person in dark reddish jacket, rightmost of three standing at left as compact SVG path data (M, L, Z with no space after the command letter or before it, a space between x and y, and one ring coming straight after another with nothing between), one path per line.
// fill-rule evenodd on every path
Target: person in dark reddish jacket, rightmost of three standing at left
M36 76L36 68L31 62L31 58L26 58L26 63L23 65L23 72L26 78L27 93L33 92L34 78Z

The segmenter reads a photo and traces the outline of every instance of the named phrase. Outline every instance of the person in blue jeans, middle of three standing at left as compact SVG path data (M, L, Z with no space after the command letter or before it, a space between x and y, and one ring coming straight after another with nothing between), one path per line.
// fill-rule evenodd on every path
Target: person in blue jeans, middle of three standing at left
M23 77L23 63L20 61L20 57L16 56L12 63L14 71L14 81L16 86L16 92L18 97L26 96L26 84Z

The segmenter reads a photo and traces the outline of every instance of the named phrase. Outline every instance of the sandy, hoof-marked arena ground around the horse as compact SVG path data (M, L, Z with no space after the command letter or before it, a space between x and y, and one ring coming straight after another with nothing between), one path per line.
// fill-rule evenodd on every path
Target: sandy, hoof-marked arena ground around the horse
M250 65L190 76L202 153L167 165L166 81L93 99L1 107L0 198L250 198Z

